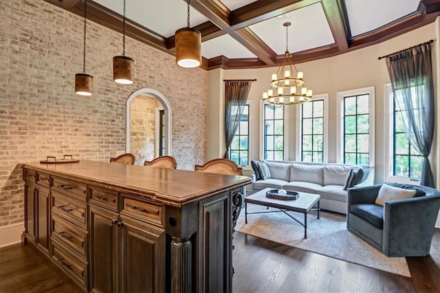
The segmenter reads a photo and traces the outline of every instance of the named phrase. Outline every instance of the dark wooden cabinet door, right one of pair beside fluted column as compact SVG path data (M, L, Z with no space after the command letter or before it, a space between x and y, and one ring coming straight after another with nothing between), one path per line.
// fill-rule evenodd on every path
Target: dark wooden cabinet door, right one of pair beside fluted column
M120 292L165 291L165 230L120 216Z

